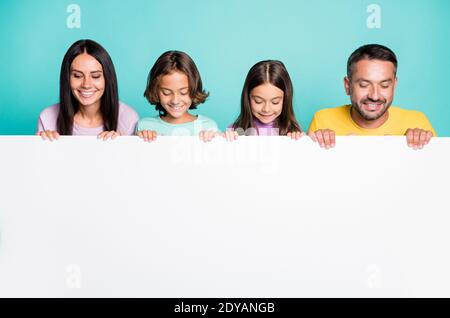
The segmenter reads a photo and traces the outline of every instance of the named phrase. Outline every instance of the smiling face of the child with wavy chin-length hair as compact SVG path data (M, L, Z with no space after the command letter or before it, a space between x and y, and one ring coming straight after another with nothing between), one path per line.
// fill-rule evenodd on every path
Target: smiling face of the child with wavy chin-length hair
M192 105L189 96L189 81L186 74L174 71L163 75L159 82L158 97L161 106L166 110L169 122L180 123L189 118L187 112Z

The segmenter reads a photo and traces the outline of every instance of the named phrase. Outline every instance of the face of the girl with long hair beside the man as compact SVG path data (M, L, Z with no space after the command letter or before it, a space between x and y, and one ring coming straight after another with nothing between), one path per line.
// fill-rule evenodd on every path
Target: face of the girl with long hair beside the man
M252 114L264 124L272 123L283 109L284 92L278 87L265 83L250 91Z

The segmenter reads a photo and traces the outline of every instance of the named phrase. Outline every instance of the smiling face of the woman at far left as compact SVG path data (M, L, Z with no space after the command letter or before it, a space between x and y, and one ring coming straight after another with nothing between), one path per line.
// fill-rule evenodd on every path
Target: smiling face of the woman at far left
M70 88L80 106L100 106L105 92L102 65L91 55L78 55L70 66Z

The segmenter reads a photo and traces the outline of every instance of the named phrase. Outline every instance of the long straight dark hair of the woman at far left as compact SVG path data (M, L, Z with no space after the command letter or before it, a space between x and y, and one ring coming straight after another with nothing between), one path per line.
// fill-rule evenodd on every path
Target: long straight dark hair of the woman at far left
M80 54L93 56L103 67L105 91L100 100L100 113L105 131L117 130L119 117L119 93L114 64L108 52L97 42L79 40L72 44L64 55L59 77L59 115L57 129L61 135L72 135L73 118L79 109L78 101L70 88L70 67L73 60Z

